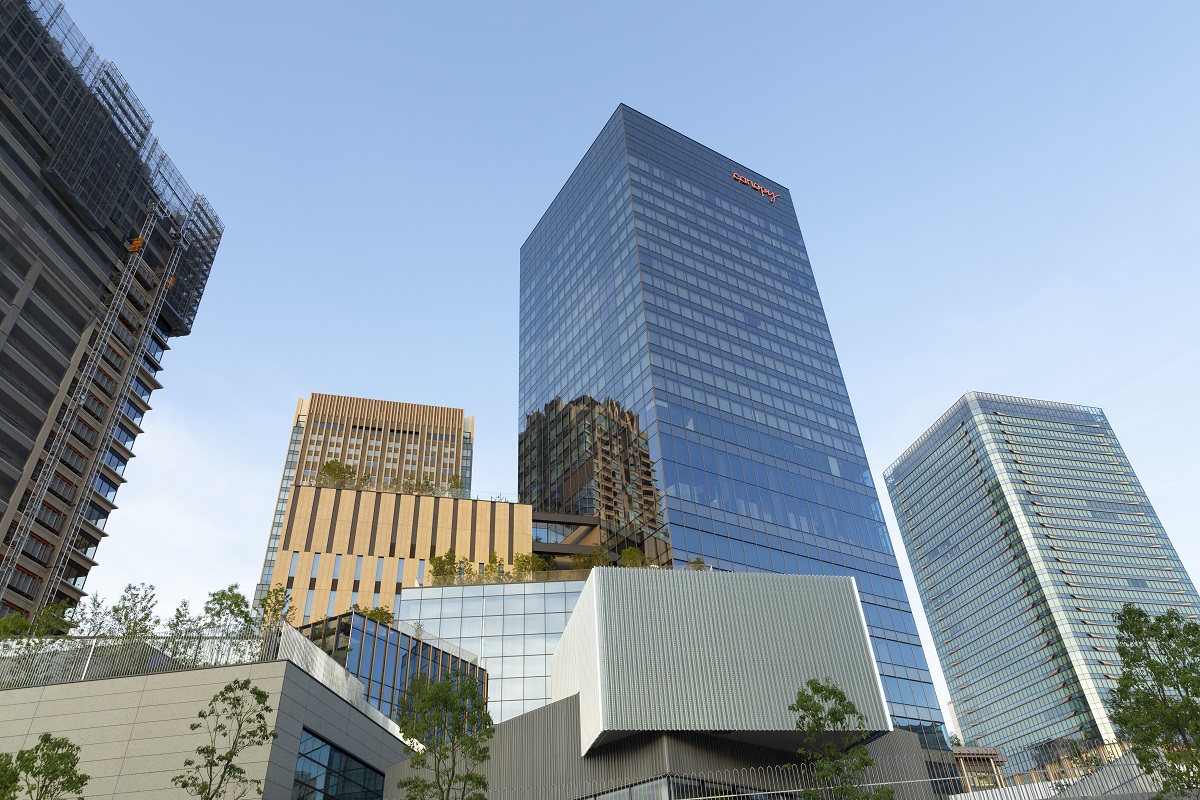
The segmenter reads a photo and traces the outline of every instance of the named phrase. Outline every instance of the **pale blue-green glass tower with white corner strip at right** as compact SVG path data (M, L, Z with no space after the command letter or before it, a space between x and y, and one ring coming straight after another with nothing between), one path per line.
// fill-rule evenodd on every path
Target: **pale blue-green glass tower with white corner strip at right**
M1104 413L972 392L884 480L965 742L1115 740L1112 615L1200 597Z

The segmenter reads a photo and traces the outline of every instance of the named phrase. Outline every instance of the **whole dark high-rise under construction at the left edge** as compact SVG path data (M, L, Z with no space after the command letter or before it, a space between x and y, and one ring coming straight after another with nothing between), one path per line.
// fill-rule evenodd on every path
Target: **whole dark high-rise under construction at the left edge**
M222 223L61 4L0 0L0 615L78 601Z

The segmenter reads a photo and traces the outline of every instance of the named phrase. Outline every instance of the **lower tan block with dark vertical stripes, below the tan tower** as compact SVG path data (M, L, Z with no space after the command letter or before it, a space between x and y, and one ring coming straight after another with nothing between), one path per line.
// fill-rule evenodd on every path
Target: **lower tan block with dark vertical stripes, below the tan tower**
M517 503L392 492L296 487L288 501L270 585L287 587L298 622L384 606L427 582L426 561L454 549L480 569L506 567L533 547L533 511Z

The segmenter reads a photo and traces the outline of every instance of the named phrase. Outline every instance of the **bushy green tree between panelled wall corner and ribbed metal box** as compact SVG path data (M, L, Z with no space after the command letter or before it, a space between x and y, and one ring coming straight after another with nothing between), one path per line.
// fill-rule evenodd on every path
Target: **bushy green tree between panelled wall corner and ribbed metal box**
M413 775L396 786L404 800L486 800L487 778L475 770L491 758L494 728L478 678L461 670L440 680L416 675L400 699L396 724L424 746L408 762Z

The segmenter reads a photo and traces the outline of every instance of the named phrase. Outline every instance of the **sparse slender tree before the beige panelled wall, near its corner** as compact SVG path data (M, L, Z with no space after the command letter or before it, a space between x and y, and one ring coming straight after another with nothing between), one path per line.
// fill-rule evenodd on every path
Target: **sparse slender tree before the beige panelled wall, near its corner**
M251 747L275 739L266 717L274 710L266 704L270 694L252 686L250 680L235 680L212 696L200 710L192 730L205 732L208 741L196 748L197 758L184 762L185 770L170 782L200 800L241 800L253 792L263 794L263 782L247 778L238 758Z

